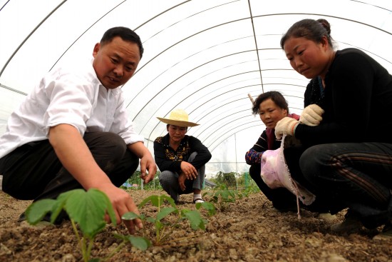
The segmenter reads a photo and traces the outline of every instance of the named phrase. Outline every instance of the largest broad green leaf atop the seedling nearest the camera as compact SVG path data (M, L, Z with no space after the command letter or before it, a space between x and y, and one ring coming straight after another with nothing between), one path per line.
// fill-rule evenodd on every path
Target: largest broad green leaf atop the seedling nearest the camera
M105 227L104 216L111 206L108 197L98 189L75 190L66 199L68 216L79 224L83 235L94 238ZM112 220L115 224L115 219Z

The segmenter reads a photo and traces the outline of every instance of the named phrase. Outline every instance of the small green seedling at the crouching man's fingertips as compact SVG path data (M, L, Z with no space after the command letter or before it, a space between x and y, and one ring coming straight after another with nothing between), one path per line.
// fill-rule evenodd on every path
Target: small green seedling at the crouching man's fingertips
M163 206L164 202L167 201L170 206ZM215 207L211 203L197 203L197 210L187 210L177 209L175 202L169 196L160 195L160 196L148 196L143 199L143 201L139 204L138 208L143 208L147 203L151 203L153 206L157 208L157 213L155 216L145 216L143 213L138 215L133 212L125 213L122 217L123 220L133 220L135 218L140 218L142 221L152 223L155 227L155 240L153 240L154 246L163 246L165 243L169 242L170 236L172 236L172 232L179 226L180 221L187 219L190 223L190 226L193 230L202 229L205 230L205 224L207 221L202 218L199 208L203 207L208 211L209 215L215 213ZM167 219L169 216L175 216L175 222L170 223ZM195 237L195 236L192 236ZM186 238L186 237L185 237ZM182 238L182 239L185 239ZM176 239L182 240L182 239Z

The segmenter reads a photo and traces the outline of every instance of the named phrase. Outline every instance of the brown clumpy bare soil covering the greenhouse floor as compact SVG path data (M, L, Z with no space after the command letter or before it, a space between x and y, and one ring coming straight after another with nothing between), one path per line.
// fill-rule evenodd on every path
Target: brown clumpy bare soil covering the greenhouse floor
M165 192L130 193L140 203L147 196ZM177 208L195 209L191 195L182 195L180 201ZM30 203L0 191L0 261L83 261L70 221L43 228L17 222ZM153 213L153 208L145 206L140 212ZM202 215L207 219L205 231L193 231L184 221L175 228L169 244L146 251L127 245L110 261L392 261L392 241L372 240L374 231L330 231L329 226L340 221L344 212L325 220L301 210L299 219L296 213L276 211L262 193L252 193L229 203L223 211L218 209L214 216ZM94 242L93 258L104 258L118 246L120 240L114 232L128 234L123 224L106 226ZM145 223L145 232L153 236L153 226ZM192 237L179 241L183 236Z

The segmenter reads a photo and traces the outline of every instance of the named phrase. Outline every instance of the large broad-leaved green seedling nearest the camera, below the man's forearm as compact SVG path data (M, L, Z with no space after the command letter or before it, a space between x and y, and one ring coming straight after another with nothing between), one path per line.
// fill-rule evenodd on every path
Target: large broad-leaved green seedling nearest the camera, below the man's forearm
M58 198L55 199L42 199L40 201L33 202L26 209L26 218L31 225L36 225L42 220L46 213L51 213L51 223L56 221L58 214L62 211L66 211L68 214L73 231L76 234L83 261L107 261L116 252L122 248L125 243L131 243L136 248L145 250L150 245L150 242L144 238L136 236L120 236L115 235L123 240L123 243L118 245L118 248L110 253L106 258L91 259L91 249L93 248L93 241L96 235L105 228L105 214L107 213L110 217L110 221L116 225L115 213L113 206L110 203L108 196L98 189L90 189L84 191L83 189L75 189L62 193ZM76 226L78 224L78 227ZM82 235L79 234L78 228Z

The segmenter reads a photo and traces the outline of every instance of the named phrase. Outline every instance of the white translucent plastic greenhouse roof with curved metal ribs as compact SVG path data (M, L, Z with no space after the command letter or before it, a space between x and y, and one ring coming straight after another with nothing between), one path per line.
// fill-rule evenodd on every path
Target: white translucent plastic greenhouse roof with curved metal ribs
M362 49L392 72L391 10L381 0L0 0L0 132L39 77L127 26L145 53L123 91L148 148L166 133L156 116L182 108L200 124L188 134L210 148L212 163L237 165L265 129L247 94L281 91L292 113L303 109L309 80L279 46L289 26L327 19L339 49Z

